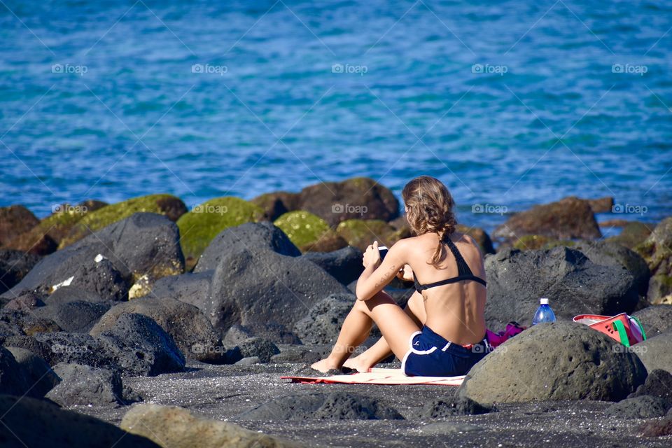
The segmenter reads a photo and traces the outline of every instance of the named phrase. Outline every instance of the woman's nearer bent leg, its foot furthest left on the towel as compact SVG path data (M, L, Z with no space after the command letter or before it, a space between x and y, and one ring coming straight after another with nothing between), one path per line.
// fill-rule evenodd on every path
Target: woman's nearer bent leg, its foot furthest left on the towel
M350 357L354 349L366 340L373 323L378 325L389 348L398 358L408 351L408 341L420 326L383 291L369 300L357 300L345 318L330 355L311 367L320 372L337 369Z

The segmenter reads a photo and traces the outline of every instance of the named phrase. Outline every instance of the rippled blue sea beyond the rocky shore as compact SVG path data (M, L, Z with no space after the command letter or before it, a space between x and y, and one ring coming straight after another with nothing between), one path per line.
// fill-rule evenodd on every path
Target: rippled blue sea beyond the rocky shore
M489 230L672 215L668 1L0 3L1 206L430 174Z

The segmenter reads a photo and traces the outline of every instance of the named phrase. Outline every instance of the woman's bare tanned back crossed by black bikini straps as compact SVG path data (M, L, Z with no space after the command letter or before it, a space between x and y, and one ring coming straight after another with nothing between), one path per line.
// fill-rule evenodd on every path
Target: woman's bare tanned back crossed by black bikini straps
M439 244L435 233L410 238L405 244L407 260L420 283L433 283L455 277L458 268L454 255L444 245L446 256L438 267L430 264ZM483 257L475 241L455 232L451 235L458 251L475 276L485 280ZM422 291L427 319L425 325L456 344L475 344L485 336L484 309L486 288L477 281L458 281Z

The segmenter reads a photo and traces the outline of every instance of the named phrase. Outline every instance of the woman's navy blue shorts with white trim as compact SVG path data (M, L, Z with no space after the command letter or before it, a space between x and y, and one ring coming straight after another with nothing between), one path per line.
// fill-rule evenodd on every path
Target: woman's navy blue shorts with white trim
M489 353L483 339L467 349L449 342L424 326L411 335L410 349L401 363L401 370L410 377L457 377L467 374L475 363Z

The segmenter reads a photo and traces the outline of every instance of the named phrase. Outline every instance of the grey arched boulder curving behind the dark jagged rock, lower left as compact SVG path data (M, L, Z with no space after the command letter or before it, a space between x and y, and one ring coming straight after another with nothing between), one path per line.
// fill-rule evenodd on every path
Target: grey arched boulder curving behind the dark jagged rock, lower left
M90 329L90 335L99 336L113 330L119 317L130 313L151 317L190 358L204 363L220 363L225 356L226 350L218 333L200 309L169 297L144 297L116 304Z

